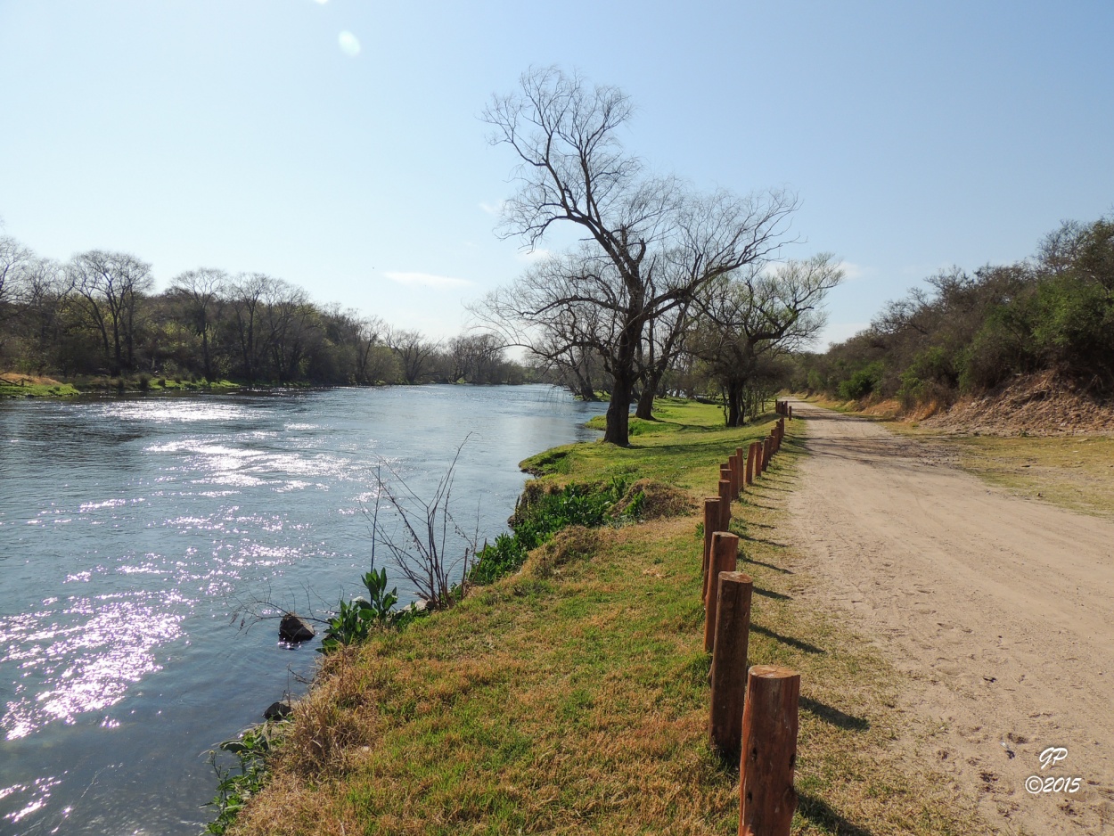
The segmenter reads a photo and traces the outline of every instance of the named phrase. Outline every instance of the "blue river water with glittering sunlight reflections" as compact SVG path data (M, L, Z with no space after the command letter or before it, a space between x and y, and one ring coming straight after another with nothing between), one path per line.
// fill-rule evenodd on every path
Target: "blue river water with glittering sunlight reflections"
M377 468L428 496L466 438L453 511L505 531L518 461L602 410L536 386L0 402L0 834L198 833L205 752L316 655L241 607L355 594Z

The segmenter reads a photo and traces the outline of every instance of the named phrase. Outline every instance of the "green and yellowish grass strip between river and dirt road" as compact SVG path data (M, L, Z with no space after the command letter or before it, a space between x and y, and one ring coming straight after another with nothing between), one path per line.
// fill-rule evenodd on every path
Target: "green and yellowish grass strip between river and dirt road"
M715 407L668 402L632 446L556 448L544 482L652 478L711 495L727 454L770 424L724 429ZM733 528L755 580L751 663L802 674L799 833L967 834L970 805L928 761L897 708L901 680L817 612L786 545L800 424ZM695 507L695 504L694 504ZM706 743L695 513L576 529L453 610L324 661L241 834L733 834L737 764Z

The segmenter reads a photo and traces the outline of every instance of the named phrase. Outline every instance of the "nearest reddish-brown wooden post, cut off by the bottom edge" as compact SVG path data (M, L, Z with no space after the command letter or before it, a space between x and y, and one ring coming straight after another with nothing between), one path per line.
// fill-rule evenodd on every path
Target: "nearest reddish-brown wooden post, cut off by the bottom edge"
M797 809L797 703L801 675L756 664L746 678L739 761L739 836L789 836Z

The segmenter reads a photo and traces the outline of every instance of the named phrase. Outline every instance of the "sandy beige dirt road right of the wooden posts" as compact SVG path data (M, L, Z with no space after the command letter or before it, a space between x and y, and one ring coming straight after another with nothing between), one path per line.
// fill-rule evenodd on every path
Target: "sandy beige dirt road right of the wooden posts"
M1114 524L988 488L877 424L793 415L811 455L792 536L827 581L817 603L850 610L911 674L906 708L944 725L899 745L989 827L1114 835ZM1049 747L1066 757L1042 769ZM1034 795L1033 775L1082 780Z

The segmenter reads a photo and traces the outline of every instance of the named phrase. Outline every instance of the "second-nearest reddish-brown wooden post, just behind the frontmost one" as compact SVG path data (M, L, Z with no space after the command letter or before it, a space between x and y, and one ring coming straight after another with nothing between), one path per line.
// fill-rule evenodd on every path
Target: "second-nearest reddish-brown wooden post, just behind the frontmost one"
M737 755L746 696L746 644L754 581L742 572L720 573L712 648L712 710L709 739L723 755Z

